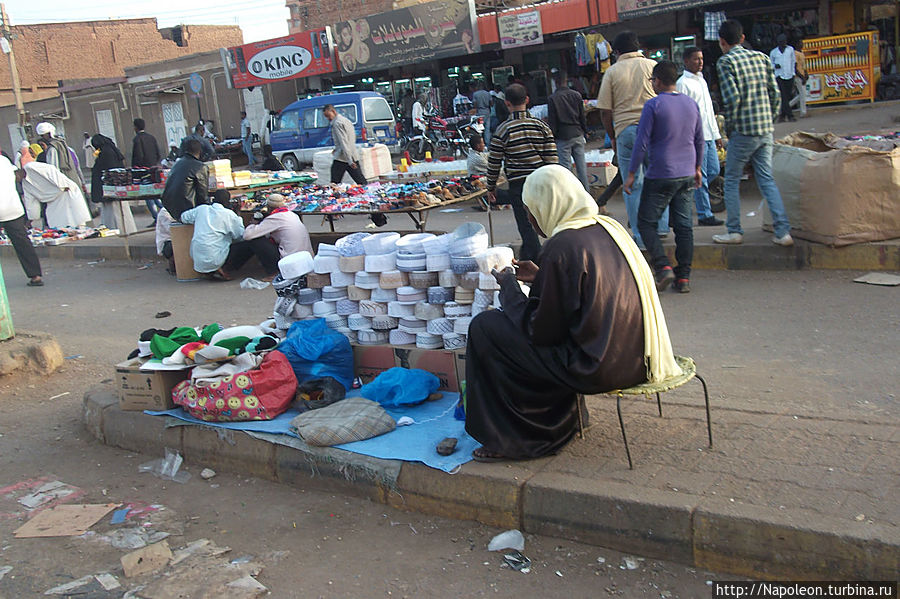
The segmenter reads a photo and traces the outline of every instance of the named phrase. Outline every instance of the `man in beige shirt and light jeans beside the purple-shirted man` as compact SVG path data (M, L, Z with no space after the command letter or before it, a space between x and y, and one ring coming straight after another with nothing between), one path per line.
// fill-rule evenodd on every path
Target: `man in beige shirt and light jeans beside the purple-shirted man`
M613 51L618 54L618 59L616 64L603 74L597 107L600 109L603 127L612 140L613 151L619 157L619 166L627 168L631 163L631 152L637 135L637 124L641 120L641 110L644 103L656 95L650 84L650 74L656 63L644 58L637 35L631 31L623 31L617 35L612 46ZM642 249L644 242L637 228L637 212L643 183L644 168L641 166L635 173L631 193L624 194L631 236ZM662 237L669 234L668 212L663 213L660 218L657 232Z

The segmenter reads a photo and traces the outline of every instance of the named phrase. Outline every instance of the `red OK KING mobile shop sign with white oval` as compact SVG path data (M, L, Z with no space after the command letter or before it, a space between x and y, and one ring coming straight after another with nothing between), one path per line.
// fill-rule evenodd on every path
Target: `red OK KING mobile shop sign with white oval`
M327 27L228 48L223 57L234 87L253 87L337 70Z

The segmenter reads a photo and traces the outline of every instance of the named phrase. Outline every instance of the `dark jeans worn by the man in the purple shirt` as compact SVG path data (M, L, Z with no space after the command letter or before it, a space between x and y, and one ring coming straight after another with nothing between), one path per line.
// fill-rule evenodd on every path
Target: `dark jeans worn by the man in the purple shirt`
M671 209L672 228L675 230L675 277L691 278L691 262L694 259L694 226L691 222L691 190L693 177L675 179L644 179L641 205L638 209L638 229L647 245L650 264L659 272L669 264L662 242L654 235L654 227L660 215Z

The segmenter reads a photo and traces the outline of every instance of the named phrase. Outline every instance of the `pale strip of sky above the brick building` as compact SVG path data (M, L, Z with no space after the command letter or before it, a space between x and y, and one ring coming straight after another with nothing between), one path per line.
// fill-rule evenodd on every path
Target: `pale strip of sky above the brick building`
M13 25L156 17L160 27L240 25L244 42L288 34L284 0L5 0Z

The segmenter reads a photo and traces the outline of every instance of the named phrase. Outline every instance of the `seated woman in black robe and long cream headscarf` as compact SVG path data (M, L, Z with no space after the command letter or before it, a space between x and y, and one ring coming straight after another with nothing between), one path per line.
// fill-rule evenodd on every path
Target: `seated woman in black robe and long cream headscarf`
M657 308L658 298L637 247L626 247L630 259L620 247L633 245L627 232L599 217L578 179L558 165L532 173L523 200L532 225L550 238L537 265L495 271L502 310L479 314L469 327L466 431L482 443L472 454L478 461L553 454L576 432L576 394L648 380L642 297L652 293ZM641 276L652 291L639 286ZM519 281L531 283L528 296ZM661 311L650 314L662 320Z

